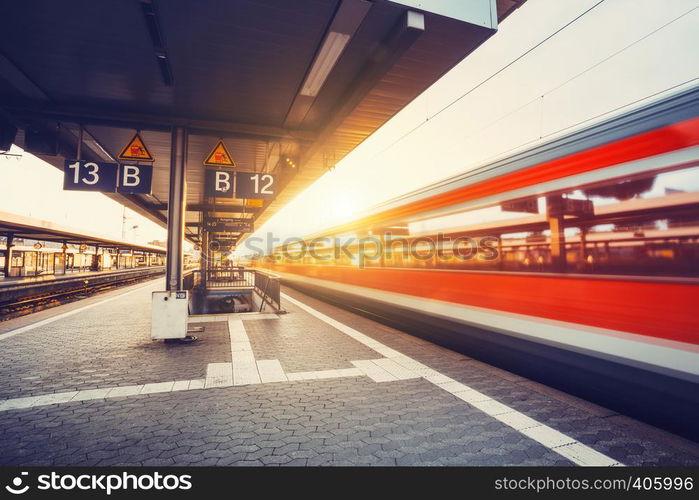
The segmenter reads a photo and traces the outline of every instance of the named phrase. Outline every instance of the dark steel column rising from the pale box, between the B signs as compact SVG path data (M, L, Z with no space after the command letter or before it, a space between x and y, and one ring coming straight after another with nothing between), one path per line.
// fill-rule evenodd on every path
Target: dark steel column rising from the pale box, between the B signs
M172 130L170 196L167 210L166 287L171 292L182 290L186 160L187 129L175 127Z

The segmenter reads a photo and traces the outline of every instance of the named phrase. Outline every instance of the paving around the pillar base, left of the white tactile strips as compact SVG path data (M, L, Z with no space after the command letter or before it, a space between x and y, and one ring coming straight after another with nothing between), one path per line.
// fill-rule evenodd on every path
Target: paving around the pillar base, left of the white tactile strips
M207 363L230 362L225 322L192 325L205 331L190 345L151 341L150 308L144 306L162 284L156 280L137 288L65 320L1 339L0 400L197 379L206 375Z

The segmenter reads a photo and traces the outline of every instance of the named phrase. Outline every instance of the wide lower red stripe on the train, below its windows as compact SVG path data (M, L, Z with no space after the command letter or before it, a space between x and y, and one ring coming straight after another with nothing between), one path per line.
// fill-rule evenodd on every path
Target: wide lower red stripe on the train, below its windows
M271 269L699 344L699 286L696 285L315 265L274 265Z

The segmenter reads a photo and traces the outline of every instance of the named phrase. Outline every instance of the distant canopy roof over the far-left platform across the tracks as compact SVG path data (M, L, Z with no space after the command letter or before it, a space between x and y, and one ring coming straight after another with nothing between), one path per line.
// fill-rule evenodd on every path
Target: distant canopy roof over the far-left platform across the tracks
M25 217L23 215L0 212L0 235L12 234L14 238L26 238L39 241L58 241L76 245L99 245L110 248L130 248L147 252L164 254L163 247L154 245L137 245L118 241L107 236L88 233L81 229L54 224L53 222Z

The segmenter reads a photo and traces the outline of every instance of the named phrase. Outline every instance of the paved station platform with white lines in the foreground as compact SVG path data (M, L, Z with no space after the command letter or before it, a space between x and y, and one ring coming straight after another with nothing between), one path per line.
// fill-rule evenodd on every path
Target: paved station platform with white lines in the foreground
M161 280L0 323L3 465L699 465L699 444L285 288L192 317Z

